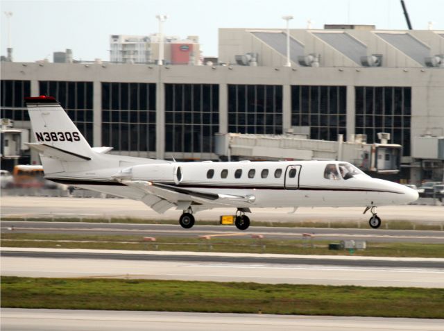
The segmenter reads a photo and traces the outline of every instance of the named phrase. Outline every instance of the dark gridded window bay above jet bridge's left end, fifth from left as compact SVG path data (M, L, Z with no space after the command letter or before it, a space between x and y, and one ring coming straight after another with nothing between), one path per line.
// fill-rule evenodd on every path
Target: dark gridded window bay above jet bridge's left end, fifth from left
M228 132L280 135L281 85L228 85Z

